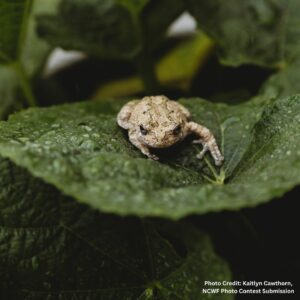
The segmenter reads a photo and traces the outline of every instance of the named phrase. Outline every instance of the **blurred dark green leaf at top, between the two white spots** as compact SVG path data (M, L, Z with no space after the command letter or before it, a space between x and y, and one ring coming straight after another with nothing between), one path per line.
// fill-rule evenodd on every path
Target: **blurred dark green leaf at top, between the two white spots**
M138 13L148 0L63 0L57 16L39 18L51 44L104 58L128 59L141 48Z

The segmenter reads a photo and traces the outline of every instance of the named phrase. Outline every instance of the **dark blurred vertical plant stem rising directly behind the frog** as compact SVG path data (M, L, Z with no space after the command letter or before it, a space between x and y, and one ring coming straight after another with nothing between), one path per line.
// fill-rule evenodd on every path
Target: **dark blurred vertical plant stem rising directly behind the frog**
M142 50L137 57L137 70L143 81L147 95L157 94L160 90L153 57L147 50Z

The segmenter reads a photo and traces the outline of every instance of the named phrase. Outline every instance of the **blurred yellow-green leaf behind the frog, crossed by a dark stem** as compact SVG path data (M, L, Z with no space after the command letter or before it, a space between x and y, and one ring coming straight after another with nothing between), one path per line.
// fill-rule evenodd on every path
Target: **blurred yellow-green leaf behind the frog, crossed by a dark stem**
M187 90L213 48L212 40L202 33L180 43L157 63L156 73L160 84ZM126 97L142 91L142 81L138 77L130 77L102 85L95 98Z

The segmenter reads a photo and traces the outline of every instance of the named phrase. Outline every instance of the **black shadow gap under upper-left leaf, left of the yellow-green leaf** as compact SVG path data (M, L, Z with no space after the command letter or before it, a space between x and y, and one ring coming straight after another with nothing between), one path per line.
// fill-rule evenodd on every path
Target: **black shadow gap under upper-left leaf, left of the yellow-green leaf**
M101 84L132 76L131 63L84 59L36 84L36 94L43 106L89 100Z

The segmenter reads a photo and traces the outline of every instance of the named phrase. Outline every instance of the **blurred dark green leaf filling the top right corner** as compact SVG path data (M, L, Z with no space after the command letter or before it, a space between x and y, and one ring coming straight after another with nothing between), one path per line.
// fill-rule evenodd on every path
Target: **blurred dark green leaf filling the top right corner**
M276 67L299 56L297 0L188 0L187 3L200 28L218 43L224 64Z

